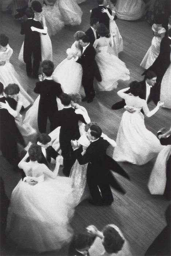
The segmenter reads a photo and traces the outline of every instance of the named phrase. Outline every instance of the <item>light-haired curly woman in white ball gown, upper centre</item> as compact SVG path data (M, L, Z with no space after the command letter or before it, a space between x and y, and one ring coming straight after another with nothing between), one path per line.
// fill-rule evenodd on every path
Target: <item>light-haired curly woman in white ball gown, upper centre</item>
M81 56L79 40L82 35L85 35L83 31L77 31L74 34L75 42L71 48L66 51L68 57L63 60L53 72L53 80L60 83L62 91L67 94L79 93L81 88L83 68L74 60L73 54L76 54L78 57Z

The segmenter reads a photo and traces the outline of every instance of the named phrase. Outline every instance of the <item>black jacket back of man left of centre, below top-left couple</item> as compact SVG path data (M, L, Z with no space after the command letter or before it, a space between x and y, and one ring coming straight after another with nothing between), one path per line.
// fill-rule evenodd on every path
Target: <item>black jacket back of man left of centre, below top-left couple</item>
M35 93L40 94L39 111L56 112L58 110L56 97L62 93L61 84L45 79L36 83Z

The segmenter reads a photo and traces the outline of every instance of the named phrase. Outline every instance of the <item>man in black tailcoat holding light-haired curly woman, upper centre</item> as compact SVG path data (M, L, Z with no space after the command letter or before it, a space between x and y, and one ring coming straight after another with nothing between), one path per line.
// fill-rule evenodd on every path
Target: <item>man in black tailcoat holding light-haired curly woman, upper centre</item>
M90 44L90 38L87 35L80 37L80 45L83 47L81 57L75 55L75 61L83 67L82 84L86 97L82 101L92 102L95 97L93 88L94 77L101 82L102 77L98 65L95 61L96 50Z

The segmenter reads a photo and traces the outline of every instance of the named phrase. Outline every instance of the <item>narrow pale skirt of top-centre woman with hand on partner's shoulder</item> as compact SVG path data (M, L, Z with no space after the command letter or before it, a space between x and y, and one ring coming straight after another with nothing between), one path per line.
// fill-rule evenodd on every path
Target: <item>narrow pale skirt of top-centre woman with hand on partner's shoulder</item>
M118 53L123 51L123 40L119 33L118 26L114 20L110 20L109 30L113 46L109 47L110 52L118 57Z

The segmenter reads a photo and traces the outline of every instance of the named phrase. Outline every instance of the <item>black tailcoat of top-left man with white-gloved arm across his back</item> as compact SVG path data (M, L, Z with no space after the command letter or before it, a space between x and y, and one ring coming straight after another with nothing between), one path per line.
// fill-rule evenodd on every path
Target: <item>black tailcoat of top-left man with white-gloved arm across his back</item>
M34 19L27 19L25 22L21 23L21 34L25 34L24 38L24 52L23 52L23 59L24 62L28 61L30 55L30 49L36 49L37 59L41 60L41 41L40 35L37 31L32 31L31 27L36 27L37 29L43 29L41 23Z

